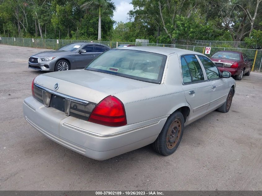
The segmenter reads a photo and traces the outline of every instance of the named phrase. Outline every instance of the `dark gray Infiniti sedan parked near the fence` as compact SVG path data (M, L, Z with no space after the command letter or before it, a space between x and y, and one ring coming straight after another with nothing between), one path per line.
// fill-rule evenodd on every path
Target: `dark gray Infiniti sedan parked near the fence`
M39 52L29 57L28 68L41 71L65 71L85 68L95 57L109 50L98 43L71 43L58 50Z

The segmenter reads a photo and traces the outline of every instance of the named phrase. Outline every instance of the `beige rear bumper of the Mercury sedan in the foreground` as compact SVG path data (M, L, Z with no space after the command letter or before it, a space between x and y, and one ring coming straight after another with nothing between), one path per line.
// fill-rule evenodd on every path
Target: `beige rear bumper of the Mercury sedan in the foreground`
M167 117L108 127L67 116L33 97L23 103L24 118L56 143L96 160L105 160L153 143Z

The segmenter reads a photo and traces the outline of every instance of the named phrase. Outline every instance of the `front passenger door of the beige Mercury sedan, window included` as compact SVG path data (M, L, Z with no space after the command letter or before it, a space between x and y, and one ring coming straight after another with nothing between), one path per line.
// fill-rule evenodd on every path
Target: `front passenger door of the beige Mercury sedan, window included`
M226 101L229 93L227 92L227 79L220 78L218 68L206 56L198 55L198 58L205 69L207 80L211 85L211 100L207 111L213 111Z

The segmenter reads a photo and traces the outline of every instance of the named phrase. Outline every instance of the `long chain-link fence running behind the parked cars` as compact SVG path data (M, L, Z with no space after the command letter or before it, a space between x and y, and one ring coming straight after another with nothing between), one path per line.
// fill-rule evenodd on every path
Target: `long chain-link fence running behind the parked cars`
M15 37L1 37L0 44L6 44L11 46L24 46L24 47L32 47L32 48L44 48L44 49L59 49L69 43L73 42L93 42L87 40L54 40L54 39L34 39L34 38L15 38ZM115 48L120 44L131 44L135 45L134 42L116 42L116 41L94 41L95 43L101 43L110 48ZM209 41L207 41L209 42ZM216 41L217 42L217 41ZM224 42L224 41L223 41ZM228 41L230 42L230 41ZM245 42L243 42L245 43ZM202 43L203 44L203 43ZM204 54L205 48L209 47L209 44L203 46L188 46L188 45L174 45L174 44L144 44L144 43L136 43L136 46L161 46L161 47L169 47L169 48L180 48L185 50L192 50L196 52L200 52ZM249 59L254 59L252 61L252 71L262 72L262 50L253 50L253 49L243 49L243 48L230 48L230 47L212 47L210 54L206 54L206 56L211 57L217 51L221 50L230 50L230 51L238 51L245 53Z

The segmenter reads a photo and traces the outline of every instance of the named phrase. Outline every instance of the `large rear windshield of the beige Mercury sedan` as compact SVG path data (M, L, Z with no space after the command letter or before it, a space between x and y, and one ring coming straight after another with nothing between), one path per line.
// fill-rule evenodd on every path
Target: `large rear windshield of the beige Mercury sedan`
M85 69L160 84L167 56L137 50L107 50Z

